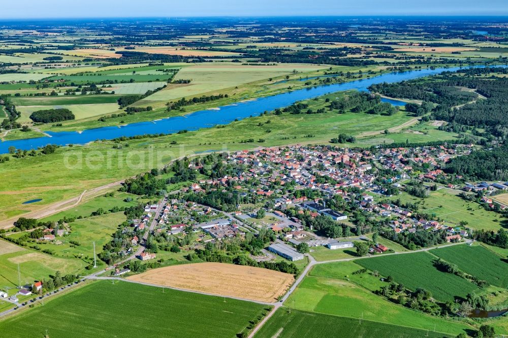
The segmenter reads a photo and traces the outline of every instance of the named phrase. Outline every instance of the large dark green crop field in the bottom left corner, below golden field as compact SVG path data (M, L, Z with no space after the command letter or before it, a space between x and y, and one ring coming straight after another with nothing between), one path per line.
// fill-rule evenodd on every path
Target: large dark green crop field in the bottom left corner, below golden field
M94 282L0 321L9 337L233 337L265 313L257 303L134 283ZM142 315L141 315L142 314ZM65 325L62 325L65 323Z

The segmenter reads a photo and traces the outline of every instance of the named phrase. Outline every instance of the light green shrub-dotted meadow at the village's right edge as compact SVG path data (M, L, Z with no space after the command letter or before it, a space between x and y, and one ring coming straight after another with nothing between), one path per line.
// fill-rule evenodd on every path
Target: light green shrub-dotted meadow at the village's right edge
M421 198L411 196L405 192L392 197L400 198L402 202L418 202ZM456 195L456 192L448 188L431 191L429 197L420 204L421 212L435 215L446 222L458 225L460 221L468 222L467 226L472 229L485 229L497 231L501 228L504 218L493 212L485 210L476 202L468 202Z

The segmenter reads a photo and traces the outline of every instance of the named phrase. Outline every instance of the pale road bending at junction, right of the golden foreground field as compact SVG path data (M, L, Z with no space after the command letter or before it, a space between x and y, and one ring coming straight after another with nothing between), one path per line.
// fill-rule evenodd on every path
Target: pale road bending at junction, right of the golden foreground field
M409 254L409 253L415 253L415 252L429 251L429 250L436 249L436 248L446 248L446 247L451 247L451 246L454 246L454 245L460 245L460 244L471 243L471 242L472 241L469 240L469 241L460 242L460 243L450 243L450 244L446 244L446 245L443 245L443 246L440 246L440 247L424 248L424 249L414 250L414 251L387 253L387 254L383 254L383 256L403 255L403 254ZM363 257L333 259L333 260L327 260L327 261L318 262L318 261L316 261L314 259L314 257L312 257L312 256L310 256L308 254L306 254L305 256L307 256L309 258L309 263L307 264L307 266L305 266L305 269L303 270L303 272L297 278L295 283L293 283L291 288L289 288L289 290L284 294L284 296L281 298L281 300L276 302L276 303L272 303L273 310L267 316L265 316L265 318L263 318L263 320L261 322L259 322L259 324L252 330L252 332L249 334L249 338L252 338L256 334L256 332L258 332L263 327L263 325L265 325L265 323L268 321L268 319L270 319L270 317L273 316L275 311L277 311L280 307L282 307L284 301L286 301L289 298L289 296L296 290L298 285L303 281L303 279L307 276L309 270L314 265L325 264L325 263L332 263L332 262L346 262L346 261L350 261L350 260L366 259L366 258L371 258L371 257L379 257L377 255L373 255L373 256L363 256Z

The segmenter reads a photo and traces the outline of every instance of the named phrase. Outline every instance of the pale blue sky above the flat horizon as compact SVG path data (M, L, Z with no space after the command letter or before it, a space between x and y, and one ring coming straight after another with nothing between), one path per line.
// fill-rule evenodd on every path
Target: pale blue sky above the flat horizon
M508 15L508 0L5 0L2 18Z

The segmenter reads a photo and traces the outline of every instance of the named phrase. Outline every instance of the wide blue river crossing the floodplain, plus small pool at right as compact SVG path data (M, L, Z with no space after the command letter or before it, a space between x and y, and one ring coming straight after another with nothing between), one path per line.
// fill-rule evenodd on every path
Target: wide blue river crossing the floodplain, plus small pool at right
M461 67L422 69L407 72L386 73L379 76L355 80L351 82L320 85L291 92L285 92L272 96L245 100L232 105L219 107L216 110L201 110L184 116L168 117L156 121L138 122L124 126L108 126L94 129L77 131L59 131L47 133L51 137L5 141L0 143L0 153L7 153L10 146L16 149L30 150L43 147L48 144L65 146L67 144L86 144L97 140L111 140L122 136L130 137L143 134L173 133L178 130L197 130L200 128L213 127L217 124L228 124L235 119L241 120L250 116L258 116L264 111L272 111L276 108L291 106L300 100L309 99L336 91L361 90L366 91L372 84L382 82L400 82L438 74L443 71L457 71ZM395 105L402 105L400 101L383 99Z

